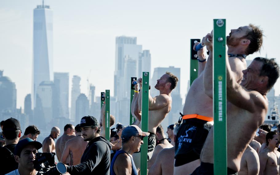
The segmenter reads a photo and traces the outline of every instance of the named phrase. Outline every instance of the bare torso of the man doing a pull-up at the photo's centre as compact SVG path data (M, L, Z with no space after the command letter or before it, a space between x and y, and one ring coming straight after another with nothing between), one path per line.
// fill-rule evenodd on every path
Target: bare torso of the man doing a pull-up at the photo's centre
M161 124L162 120L165 119L168 112L171 110L172 98L166 94L160 95L162 98L165 98L167 104L165 107L158 109L158 110L150 110L149 109L149 126L148 131L151 133L156 133L156 129L159 124ZM154 97L154 99L158 98L159 96Z

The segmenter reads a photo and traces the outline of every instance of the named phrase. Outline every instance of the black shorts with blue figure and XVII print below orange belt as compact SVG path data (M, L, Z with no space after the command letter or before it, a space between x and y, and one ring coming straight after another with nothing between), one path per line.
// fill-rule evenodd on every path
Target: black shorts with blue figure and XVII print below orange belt
M211 126L207 121L197 118L183 120L176 135L175 167L200 158L200 152Z

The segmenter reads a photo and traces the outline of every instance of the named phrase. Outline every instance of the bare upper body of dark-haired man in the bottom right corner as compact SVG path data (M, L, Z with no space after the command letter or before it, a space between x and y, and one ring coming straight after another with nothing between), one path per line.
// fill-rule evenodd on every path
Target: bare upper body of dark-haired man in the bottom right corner
M270 151L269 148L264 149L259 157L261 162L261 172L262 175L270 175L275 174L278 175L279 172L279 165L278 165L278 159L279 159L280 153L275 149L273 151ZM262 165L263 162L266 162L266 165ZM265 166L265 167L264 167Z

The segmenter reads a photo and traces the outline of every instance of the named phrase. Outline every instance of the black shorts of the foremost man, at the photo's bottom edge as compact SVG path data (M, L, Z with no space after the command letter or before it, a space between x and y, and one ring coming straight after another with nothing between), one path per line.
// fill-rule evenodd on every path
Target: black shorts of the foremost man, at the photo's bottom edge
M200 166L190 175L214 175L214 164L201 162ZM227 168L227 175L237 175L237 172Z

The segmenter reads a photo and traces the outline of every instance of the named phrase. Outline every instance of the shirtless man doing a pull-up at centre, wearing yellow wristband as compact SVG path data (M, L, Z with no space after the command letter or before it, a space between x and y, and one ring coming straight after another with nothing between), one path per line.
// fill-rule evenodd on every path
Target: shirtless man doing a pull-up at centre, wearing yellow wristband
M166 72L164 75L160 77L160 79L157 80L157 84L154 86L154 88L159 90L159 95L153 98L150 95L150 91L149 91L148 132L150 132L150 135L148 136L148 161L152 157L156 145L156 139L155 139L156 128L158 127L159 124L161 124L162 120L167 116L168 112L170 112L171 110L171 104L172 104L171 92L177 86L178 81L179 81L178 78L174 74L170 72ZM141 115L139 115L139 113L141 112L142 109L142 98L141 98L142 78L139 78L137 80L137 83L139 83L140 85L140 92L138 94L139 96L138 100L137 101L134 100L134 113L137 113L136 114L137 121L140 122ZM136 89L135 89L135 93L138 93L136 92ZM138 108L135 108L135 105L138 106Z

